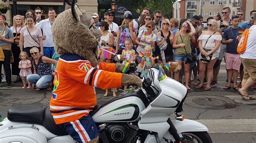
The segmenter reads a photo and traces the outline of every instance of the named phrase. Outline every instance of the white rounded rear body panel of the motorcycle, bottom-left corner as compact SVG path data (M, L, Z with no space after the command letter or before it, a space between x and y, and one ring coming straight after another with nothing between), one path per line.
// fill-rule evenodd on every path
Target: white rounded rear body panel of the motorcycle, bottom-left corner
M45 136L33 128L15 128L0 134L0 142L42 142L46 143Z

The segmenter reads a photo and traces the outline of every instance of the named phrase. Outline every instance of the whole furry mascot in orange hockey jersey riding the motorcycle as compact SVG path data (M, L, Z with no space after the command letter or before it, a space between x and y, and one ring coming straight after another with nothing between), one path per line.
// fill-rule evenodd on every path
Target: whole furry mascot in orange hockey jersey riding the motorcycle
M55 51L60 55L50 101L50 111L78 142L97 142L98 129L89 115L97 103L95 87L110 89L122 85L142 86L135 75L118 73L124 65L98 62L97 39L101 31L93 20L73 1L65 0L65 11L52 25Z

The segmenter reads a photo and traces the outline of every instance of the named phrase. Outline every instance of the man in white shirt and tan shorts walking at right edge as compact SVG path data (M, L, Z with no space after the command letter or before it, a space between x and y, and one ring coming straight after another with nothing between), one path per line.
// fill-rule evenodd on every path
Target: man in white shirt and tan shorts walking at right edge
M256 99L256 96L249 96L248 89L256 83L256 13L253 16L254 25L249 28L250 35L247 39L245 53L240 55L242 65L244 65L244 78L242 88L238 90L244 99Z

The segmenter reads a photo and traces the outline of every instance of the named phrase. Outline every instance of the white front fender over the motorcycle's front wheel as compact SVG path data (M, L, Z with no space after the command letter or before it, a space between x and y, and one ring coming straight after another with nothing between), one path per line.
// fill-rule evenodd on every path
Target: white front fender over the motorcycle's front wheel
M204 125L199 123L198 121L184 119L183 121L179 120L172 120L173 125L177 129L177 132L184 133L184 132L207 132L208 128Z

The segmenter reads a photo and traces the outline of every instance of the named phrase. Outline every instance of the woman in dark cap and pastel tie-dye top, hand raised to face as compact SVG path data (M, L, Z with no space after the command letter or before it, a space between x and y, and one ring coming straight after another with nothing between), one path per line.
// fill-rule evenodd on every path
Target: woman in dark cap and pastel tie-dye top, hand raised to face
M123 49L125 49L125 40L131 39L132 41L136 40L135 29L133 28L131 13L126 13L124 15L124 20L122 25L117 30L117 45L116 50L118 54L122 54Z

